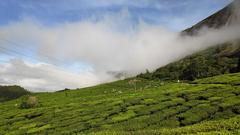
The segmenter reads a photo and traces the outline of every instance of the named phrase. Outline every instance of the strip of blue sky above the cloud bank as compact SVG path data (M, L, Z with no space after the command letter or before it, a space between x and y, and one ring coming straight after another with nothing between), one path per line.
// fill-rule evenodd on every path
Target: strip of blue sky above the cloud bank
M132 23L182 30L218 11L230 0L1 0L0 25L25 18L44 25L101 20L128 9Z

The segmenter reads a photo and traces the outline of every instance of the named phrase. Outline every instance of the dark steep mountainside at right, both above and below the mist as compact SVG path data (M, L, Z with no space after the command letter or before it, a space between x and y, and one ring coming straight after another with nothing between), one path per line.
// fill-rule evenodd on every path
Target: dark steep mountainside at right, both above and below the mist
M206 18L195 26L182 32L183 36L196 36L204 27L221 28L229 25L239 25L240 2L234 1L214 15ZM240 71L240 39L215 45L204 51L187 56L184 59L170 63L153 73L141 74L143 78L159 78L161 80L194 80L224 73Z

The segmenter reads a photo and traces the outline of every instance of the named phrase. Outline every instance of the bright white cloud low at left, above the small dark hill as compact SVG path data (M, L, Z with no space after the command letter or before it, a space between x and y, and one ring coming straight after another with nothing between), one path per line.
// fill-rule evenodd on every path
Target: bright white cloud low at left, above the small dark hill
M0 64L0 74L2 85L20 85L32 91L80 88L100 82L90 72L76 74L50 64L30 64L19 59Z

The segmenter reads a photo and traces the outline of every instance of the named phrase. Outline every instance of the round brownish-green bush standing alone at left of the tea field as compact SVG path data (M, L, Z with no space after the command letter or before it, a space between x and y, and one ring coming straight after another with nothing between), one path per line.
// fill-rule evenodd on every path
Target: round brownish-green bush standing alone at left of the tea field
M34 108L39 105L38 98L35 96L25 96L22 99L20 108L21 109L28 109L28 108Z

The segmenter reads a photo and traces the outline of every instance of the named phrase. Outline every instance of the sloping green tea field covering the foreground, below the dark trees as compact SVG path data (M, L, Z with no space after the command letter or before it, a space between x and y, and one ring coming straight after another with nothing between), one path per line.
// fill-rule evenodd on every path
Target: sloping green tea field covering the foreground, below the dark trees
M240 74L191 84L138 80L136 89L128 82L35 94L41 106L32 109L19 109L21 98L0 103L0 134L239 133Z

